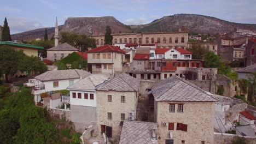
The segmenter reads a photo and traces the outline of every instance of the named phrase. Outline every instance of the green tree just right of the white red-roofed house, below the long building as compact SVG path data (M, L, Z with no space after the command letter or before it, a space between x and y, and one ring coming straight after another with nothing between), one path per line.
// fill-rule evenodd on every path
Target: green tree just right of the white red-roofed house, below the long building
M205 53L210 52L209 50L206 49L205 46L201 44L192 44L188 51L192 52L192 58L193 59L203 59L203 55Z

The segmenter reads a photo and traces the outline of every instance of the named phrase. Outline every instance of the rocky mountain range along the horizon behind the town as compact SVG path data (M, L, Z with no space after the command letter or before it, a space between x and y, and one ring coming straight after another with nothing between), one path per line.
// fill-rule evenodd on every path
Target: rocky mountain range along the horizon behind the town
M60 32L75 32L79 34L92 35L95 31L104 33L106 26L112 28L114 33L133 32L166 32L178 31L179 28L187 28L189 32L216 34L219 32L230 32L234 28L256 31L256 24L235 23L217 19L216 17L195 15L195 14L176 14L164 16L146 25L127 26L115 19L113 16L104 17L69 17L63 26L59 26ZM44 37L44 29L39 28L32 31L22 32L11 35L12 39L27 40ZM48 38L54 34L54 27L47 28Z

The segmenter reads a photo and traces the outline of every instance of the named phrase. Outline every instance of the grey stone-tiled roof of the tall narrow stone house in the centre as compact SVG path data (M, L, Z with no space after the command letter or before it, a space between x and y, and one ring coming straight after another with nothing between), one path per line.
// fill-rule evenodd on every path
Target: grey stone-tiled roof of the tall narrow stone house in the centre
M140 80L127 74L120 74L115 76L114 79L102 84L97 88L97 91L125 91L133 92L138 91Z

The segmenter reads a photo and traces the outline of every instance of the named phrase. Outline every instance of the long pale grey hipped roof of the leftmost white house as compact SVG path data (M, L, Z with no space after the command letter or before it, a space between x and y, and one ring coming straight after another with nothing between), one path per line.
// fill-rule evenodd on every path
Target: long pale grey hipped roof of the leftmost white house
M89 76L90 73L86 70L80 69L68 69L68 70L50 70L43 74L34 77L40 81L53 81L53 80L65 80L65 79L84 79Z

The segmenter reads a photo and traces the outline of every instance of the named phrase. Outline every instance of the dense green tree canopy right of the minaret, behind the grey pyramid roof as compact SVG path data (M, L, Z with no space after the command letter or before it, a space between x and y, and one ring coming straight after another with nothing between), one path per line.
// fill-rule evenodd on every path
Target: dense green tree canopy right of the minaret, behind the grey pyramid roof
M84 34L62 32L61 36L62 43L68 43L77 49L81 49L82 52L87 51L89 47L92 49L96 47L96 40Z

